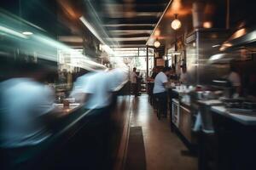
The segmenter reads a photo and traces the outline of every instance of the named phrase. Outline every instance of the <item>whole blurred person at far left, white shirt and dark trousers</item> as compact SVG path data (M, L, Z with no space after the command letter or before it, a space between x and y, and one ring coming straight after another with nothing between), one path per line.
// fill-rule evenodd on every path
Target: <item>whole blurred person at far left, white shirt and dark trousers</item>
M55 110L54 92L42 83L48 69L30 63L15 66L16 75L0 83L0 148L5 150L4 166L14 169L30 165L39 150L28 153L51 136Z

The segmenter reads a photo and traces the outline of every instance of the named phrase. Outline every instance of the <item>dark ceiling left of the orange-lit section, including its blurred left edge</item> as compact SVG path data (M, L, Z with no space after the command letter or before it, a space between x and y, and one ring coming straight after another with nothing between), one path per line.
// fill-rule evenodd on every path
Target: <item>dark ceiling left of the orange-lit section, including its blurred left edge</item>
M58 0L61 8L81 15L110 47L145 47L170 0ZM63 3L64 2L64 3Z

